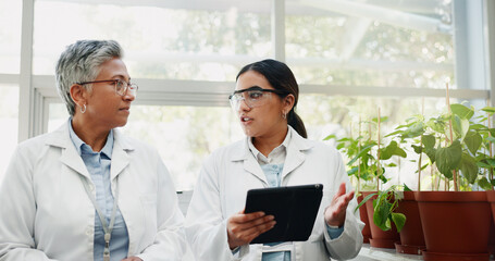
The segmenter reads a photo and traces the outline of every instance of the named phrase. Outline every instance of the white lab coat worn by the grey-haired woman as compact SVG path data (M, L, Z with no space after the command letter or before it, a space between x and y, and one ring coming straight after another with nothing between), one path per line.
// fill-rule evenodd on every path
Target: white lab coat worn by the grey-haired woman
M0 260L92 260L95 208L79 175L90 177L67 124L17 146L0 187ZM158 152L114 129L110 175L128 256L181 260L184 216Z

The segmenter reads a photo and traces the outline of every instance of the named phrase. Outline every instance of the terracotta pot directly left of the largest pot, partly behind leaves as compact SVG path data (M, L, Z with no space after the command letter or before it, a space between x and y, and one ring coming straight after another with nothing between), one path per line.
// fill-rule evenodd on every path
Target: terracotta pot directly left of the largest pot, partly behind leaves
M421 254L426 246L413 191L404 191L404 199L399 201L396 212L406 215L406 224L399 233L400 244L395 244L395 250L398 253Z

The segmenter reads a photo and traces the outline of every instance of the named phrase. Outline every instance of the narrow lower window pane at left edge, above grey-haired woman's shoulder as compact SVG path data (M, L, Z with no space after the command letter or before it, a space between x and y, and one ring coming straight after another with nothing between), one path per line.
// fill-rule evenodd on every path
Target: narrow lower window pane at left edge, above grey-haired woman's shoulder
M0 182L17 145L18 86L0 84Z

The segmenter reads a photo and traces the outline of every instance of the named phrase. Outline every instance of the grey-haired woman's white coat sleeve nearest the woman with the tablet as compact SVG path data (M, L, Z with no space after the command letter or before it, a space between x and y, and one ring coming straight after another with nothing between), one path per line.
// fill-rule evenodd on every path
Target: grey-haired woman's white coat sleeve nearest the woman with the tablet
M137 254L143 260L182 260L186 251L184 215L178 208L177 195L165 165L158 160L158 233L151 246Z

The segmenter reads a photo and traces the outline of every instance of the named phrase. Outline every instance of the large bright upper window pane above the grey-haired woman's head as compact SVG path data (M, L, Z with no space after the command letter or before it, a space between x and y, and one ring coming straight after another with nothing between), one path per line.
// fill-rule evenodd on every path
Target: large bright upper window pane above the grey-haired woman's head
M134 78L232 80L240 64L270 54L268 1L260 5L265 12L236 8L243 1L223 2L215 11L166 7L181 5L172 2L36 1L35 74L52 74L61 51L78 39L117 40Z

